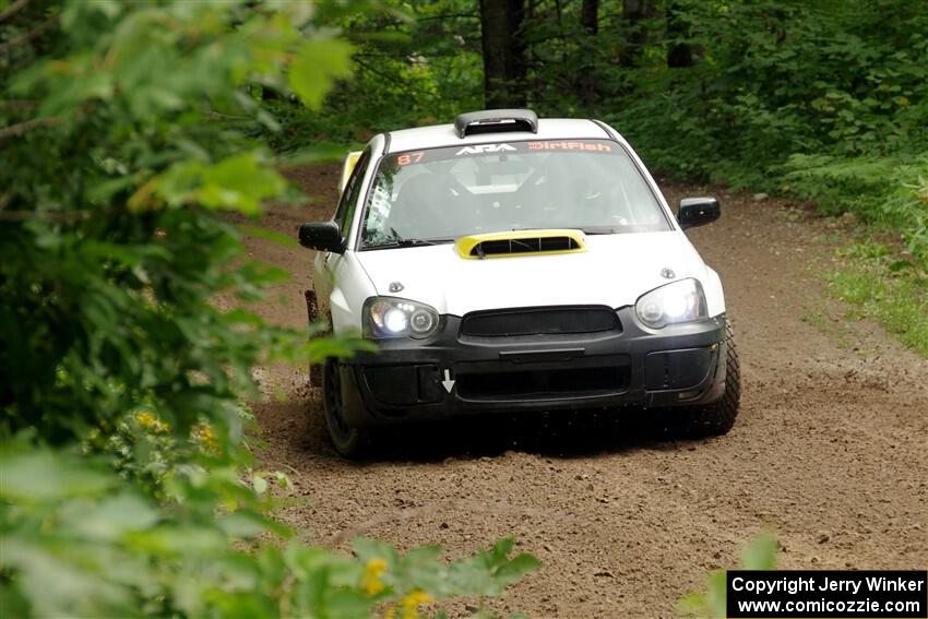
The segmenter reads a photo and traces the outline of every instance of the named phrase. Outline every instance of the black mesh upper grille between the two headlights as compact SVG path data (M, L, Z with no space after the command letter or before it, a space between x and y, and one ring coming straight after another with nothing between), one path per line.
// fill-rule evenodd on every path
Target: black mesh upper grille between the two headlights
M558 335L621 331L615 310L607 307L523 308L468 313L461 334L472 337Z

